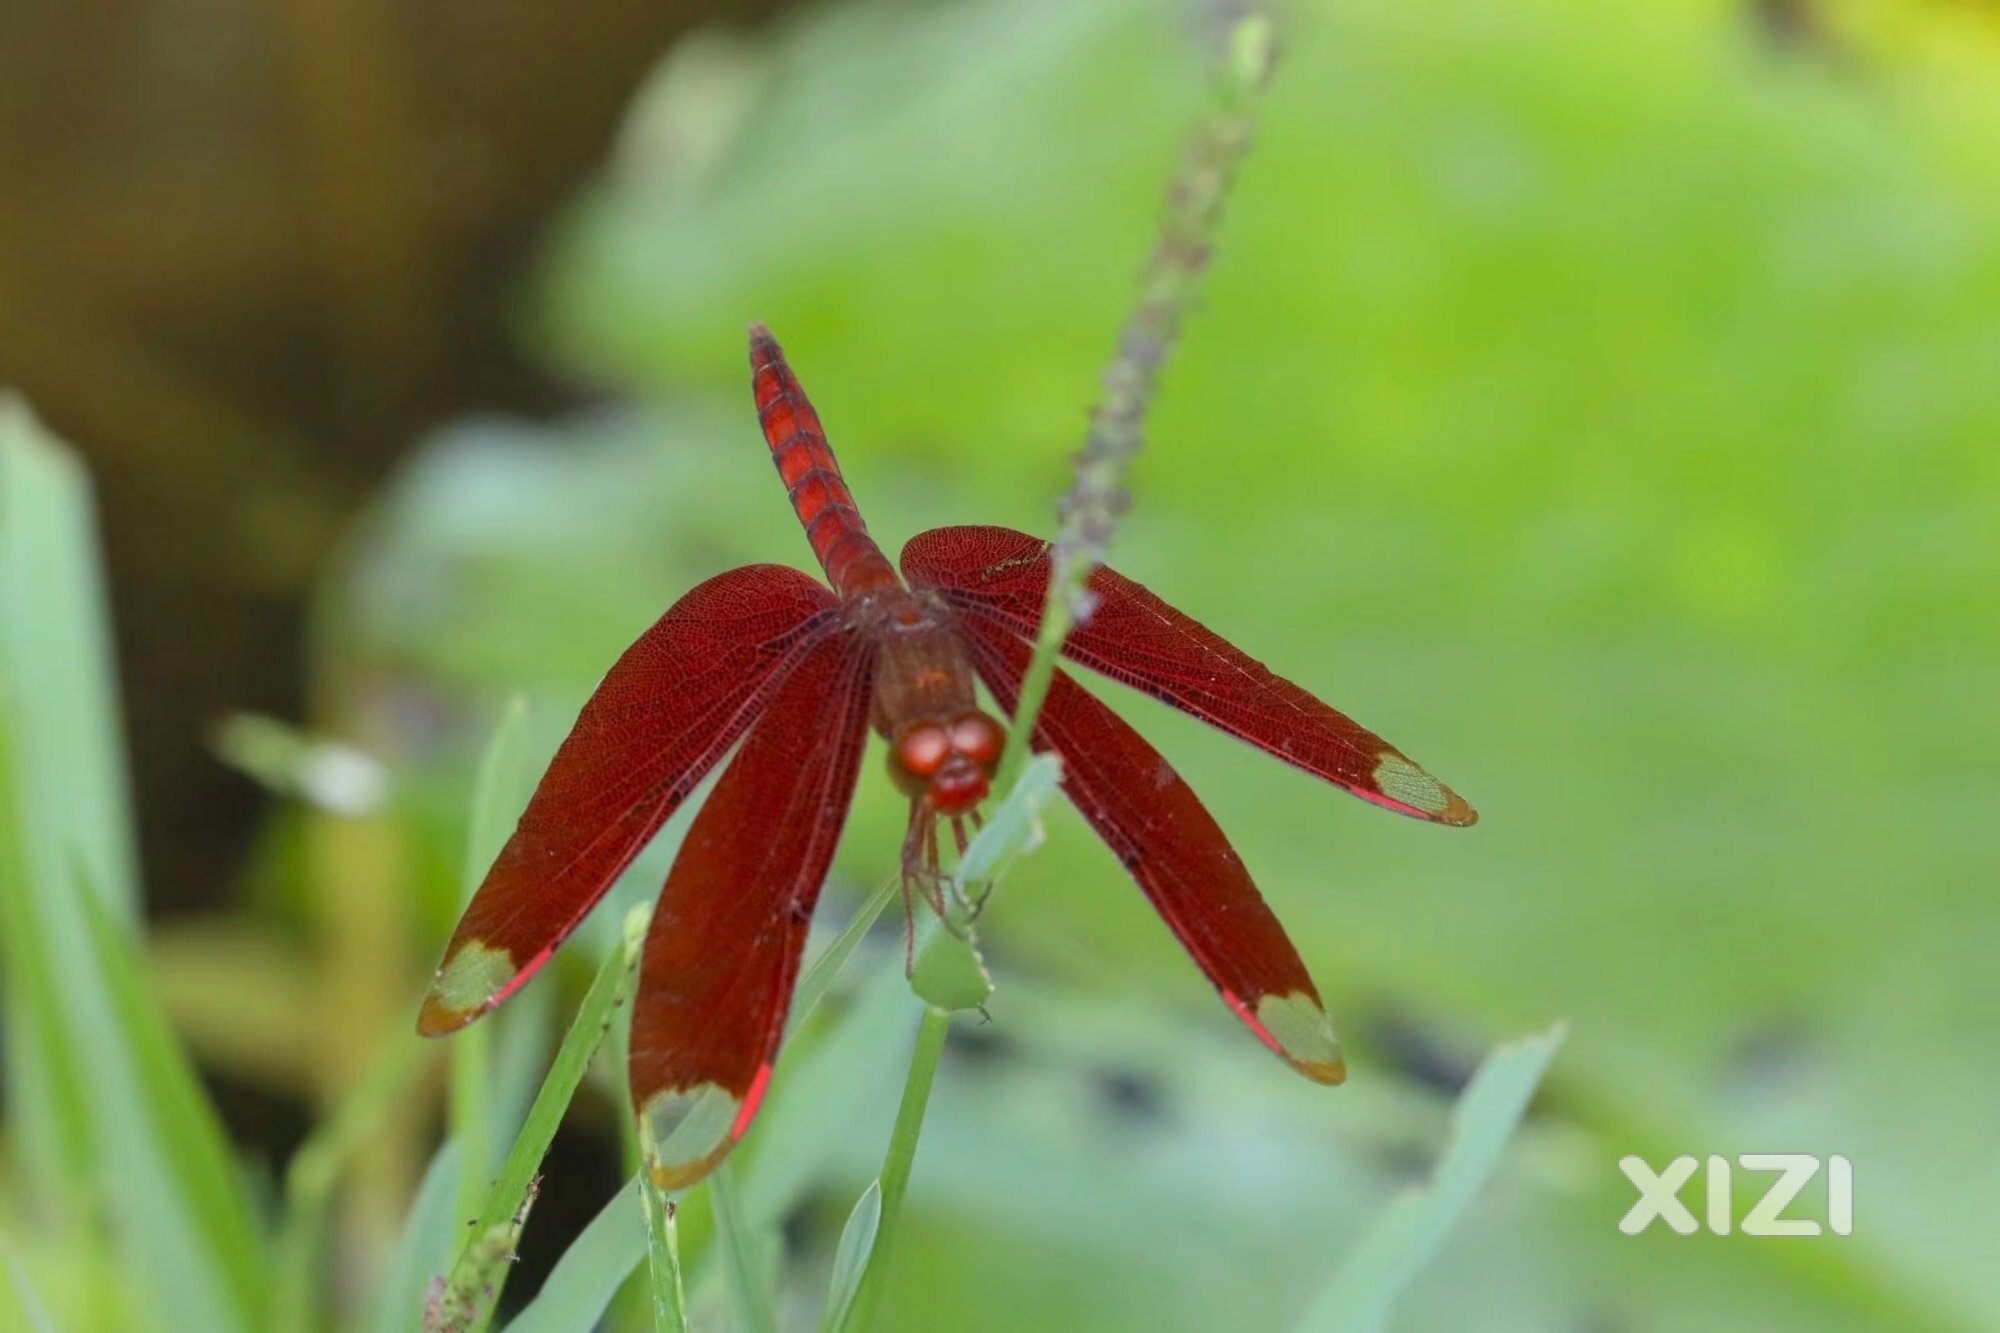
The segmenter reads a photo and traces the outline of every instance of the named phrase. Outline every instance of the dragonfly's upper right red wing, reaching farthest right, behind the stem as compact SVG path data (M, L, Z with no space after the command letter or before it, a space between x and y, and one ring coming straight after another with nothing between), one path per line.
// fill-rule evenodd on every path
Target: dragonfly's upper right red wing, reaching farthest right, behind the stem
M1030 640L1042 622L1048 570L1048 542L1012 528L932 528L902 548L902 572L914 586L946 590L954 606L976 608ZM1388 741L1124 574L1098 568L1088 586L1096 604L1062 644L1070 660L1398 815L1440 825L1478 819Z

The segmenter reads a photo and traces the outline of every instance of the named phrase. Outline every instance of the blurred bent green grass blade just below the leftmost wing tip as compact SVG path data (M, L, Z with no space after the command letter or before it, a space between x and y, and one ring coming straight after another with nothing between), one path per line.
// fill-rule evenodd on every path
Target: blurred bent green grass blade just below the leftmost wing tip
M422 1057L428 1055L416 1037L400 1029L378 1051L374 1065L340 1097L332 1115L320 1121L286 1167L270 1319L278 1333L310 1333L318 1327L322 1253L334 1187L348 1163L408 1097L424 1067Z

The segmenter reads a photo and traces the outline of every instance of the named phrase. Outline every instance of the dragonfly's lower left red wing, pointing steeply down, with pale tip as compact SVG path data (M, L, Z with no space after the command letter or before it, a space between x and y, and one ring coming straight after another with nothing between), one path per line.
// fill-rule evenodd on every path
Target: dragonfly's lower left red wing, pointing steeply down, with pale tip
M680 847L632 1007L632 1105L660 1189L708 1175L764 1097L812 907L854 799L874 654L822 642L750 729Z

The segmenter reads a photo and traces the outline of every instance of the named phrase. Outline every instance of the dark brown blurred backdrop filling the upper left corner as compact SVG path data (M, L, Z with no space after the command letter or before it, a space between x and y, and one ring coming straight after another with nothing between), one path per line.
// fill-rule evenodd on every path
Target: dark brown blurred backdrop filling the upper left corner
M428 424L546 410L508 300L634 86L784 0L0 0L0 384L90 460L156 909L302 711L312 580Z

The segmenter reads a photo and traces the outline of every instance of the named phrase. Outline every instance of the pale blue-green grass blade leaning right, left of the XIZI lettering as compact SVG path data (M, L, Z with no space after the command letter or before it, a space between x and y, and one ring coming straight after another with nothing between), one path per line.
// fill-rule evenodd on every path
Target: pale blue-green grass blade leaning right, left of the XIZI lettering
M1300 1333L1376 1333L1472 1203L1562 1045L1558 1023L1494 1049L1452 1109L1452 1139L1430 1183L1396 1199L1320 1293Z

